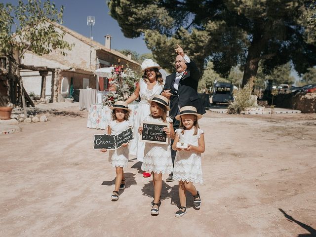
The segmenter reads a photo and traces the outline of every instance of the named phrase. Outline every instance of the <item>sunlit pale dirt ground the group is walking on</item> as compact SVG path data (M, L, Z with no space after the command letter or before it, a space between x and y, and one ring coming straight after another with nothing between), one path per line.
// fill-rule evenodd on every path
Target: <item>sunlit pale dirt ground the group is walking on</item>
M92 149L102 131L86 128L86 112L73 112L0 136L0 236L316 236L315 114L208 112L200 120L202 206L193 209L188 195L188 213L175 218L177 182L163 182L152 217L152 182L135 159L126 189L110 200L115 170Z

